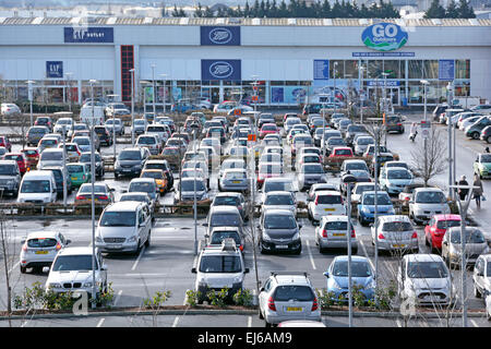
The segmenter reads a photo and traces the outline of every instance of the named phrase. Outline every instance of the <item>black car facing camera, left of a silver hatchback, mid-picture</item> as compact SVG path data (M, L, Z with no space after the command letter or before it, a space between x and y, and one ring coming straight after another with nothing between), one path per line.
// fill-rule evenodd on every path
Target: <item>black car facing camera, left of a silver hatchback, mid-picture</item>
M301 225L297 224L295 214L289 209L266 209L260 218L260 252L286 252L300 254L302 242Z

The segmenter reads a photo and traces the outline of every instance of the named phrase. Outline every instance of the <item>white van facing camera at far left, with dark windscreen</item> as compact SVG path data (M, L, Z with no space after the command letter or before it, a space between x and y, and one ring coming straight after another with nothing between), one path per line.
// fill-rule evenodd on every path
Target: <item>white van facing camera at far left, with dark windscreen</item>
M57 200L57 183L52 171L29 171L19 189L17 203L46 204Z

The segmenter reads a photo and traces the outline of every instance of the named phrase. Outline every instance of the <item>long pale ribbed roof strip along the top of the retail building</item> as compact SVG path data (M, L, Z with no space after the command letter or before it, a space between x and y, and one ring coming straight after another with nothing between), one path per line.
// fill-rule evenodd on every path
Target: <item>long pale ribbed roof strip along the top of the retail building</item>
M0 17L0 25L220 25L220 26L370 26L385 22L400 26L491 26L491 19L203 19L203 17Z

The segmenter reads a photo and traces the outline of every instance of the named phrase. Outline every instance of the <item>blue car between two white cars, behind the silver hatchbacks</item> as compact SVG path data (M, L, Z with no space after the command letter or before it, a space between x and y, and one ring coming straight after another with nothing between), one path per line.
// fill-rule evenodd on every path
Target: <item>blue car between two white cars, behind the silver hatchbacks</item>
M376 206L379 216L395 215L394 205L387 192L376 192ZM375 192L363 192L358 204L358 221L362 226L375 219Z

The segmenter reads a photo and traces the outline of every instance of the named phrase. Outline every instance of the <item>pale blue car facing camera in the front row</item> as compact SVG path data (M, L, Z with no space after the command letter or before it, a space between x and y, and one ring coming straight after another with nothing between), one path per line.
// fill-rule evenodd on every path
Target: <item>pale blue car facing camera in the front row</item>
M375 273L367 257L351 256L351 286L357 286L363 293L364 302L375 298ZM327 294L335 301L348 302L348 256L338 255L331 263L327 272Z

